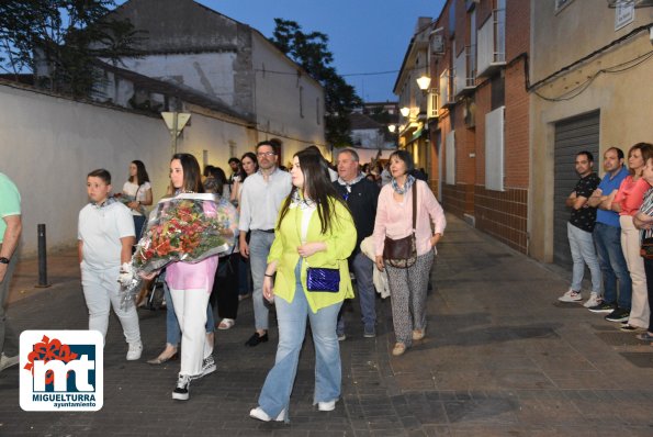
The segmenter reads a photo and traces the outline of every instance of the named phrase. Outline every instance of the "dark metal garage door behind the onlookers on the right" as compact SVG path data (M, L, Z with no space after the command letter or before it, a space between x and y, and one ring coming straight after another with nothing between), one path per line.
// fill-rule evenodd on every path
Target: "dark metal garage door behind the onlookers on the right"
M553 206L553 262L566 269L572 268L572 255L566 236L566 223L571 210L564 205L578 175L574 168L575 156L581 150L594 155L594 169L603 163L598 155L599 111L555 123L554 153L554 206Z

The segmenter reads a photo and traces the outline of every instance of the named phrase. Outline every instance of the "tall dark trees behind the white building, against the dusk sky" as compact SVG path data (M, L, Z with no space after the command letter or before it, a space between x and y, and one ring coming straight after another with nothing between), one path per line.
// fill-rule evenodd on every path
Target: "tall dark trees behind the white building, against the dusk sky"
M294 21L274 19L272 43L306 70L325 90L326 141L336 147L351 144L349 114L362 101L352 86L331 66L328 36L322 32L304 33Z

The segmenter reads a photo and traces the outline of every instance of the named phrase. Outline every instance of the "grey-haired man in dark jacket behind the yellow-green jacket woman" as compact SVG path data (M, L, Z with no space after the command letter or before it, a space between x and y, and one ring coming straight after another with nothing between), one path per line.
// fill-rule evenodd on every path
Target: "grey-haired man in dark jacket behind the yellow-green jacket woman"
M356 150L345 148L338 154L338 179L334 182L336 190L349 205L356 225L357 242L349 257L350 271L356 276L356 290L360 302L363 321L363 336L376 336L376 312L374 310L374 283L372 274L374 262L360 249L360 243L374 232L376 217L376 200L379 186L365 178L359 169L359 157ZM345 321L342 314L338 318L338 339L344 340Z

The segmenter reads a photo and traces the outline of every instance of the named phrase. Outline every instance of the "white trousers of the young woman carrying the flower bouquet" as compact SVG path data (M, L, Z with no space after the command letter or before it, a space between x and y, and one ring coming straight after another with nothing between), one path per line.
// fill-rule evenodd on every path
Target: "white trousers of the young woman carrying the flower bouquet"
M202 360L213 354L206 338L206 305L210 293L203 289L170 289L174 314L181 328L181 369L190 377L202 372Z

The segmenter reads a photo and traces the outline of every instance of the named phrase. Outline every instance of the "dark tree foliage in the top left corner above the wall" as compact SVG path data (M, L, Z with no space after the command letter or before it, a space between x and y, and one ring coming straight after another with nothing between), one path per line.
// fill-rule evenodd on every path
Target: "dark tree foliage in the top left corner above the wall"
M128 21L106 18L113 7L113 0L0 2L0 69L32 72L54 91L92 94L102 80L94 61L137 56L143 40Z

